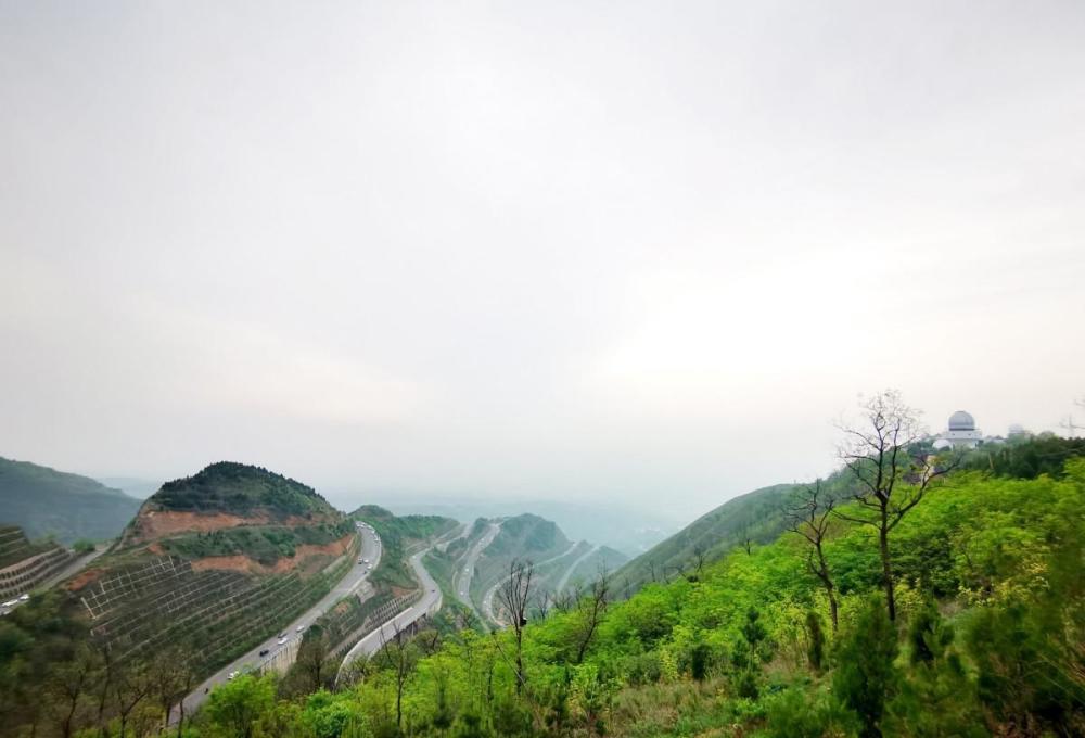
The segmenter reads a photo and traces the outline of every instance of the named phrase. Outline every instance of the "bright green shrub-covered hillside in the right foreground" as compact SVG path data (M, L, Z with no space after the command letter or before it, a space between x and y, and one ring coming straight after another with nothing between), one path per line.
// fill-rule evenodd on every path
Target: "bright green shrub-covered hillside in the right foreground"
M815 547L786 533L626 601L604 583L533 609L520 637L397 646L337 694L277 704L272 680L235 682L199 730L243 735L248 705L302 735L1082 735L1085 461L932 484L892 532L895 620L861 507L824 529L835 625Z

